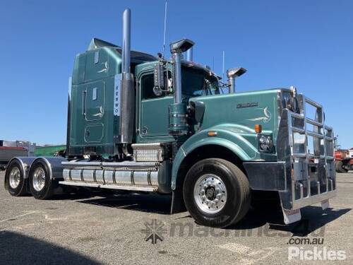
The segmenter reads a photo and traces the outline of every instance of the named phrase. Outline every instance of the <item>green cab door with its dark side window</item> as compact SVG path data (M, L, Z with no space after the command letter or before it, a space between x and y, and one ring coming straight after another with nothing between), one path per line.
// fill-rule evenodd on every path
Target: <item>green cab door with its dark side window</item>
M138 141L174 141L169 135L169 105L173 96L167 93L157 96L153 92L153 73L144 73L138 79Z

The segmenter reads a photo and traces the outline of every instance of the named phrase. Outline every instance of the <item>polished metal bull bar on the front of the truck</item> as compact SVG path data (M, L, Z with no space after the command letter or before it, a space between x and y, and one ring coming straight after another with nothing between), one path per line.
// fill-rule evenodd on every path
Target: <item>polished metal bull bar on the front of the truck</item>
M297 99L300 113L282 111L282 132L277 139L279 160L285 162L287 175L280 198L287 210L323 204L336 194L333 128L325 125L322 105L301 94ZM308 107L314 110L313 118L308 117Z

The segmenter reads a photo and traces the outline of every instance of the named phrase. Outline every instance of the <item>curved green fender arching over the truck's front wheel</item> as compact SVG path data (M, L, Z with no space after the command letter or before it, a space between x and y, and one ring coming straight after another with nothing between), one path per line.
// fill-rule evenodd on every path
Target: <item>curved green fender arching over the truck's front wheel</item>
M215 131L217 135L208 136L208 131ZM254 130L236 124L222 124L204 129L191 136L179 148L173 161L172 190L176 188L179 167L184 158L196 148L210 144L229 149L243 161L261 160L257 148L257 134Z

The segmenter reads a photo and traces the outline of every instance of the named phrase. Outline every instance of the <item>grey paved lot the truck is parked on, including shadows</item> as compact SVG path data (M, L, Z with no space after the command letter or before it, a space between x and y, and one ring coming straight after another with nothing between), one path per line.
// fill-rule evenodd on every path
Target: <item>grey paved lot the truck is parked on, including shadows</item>
M168 196L37 201L10 196L4 172L0 181L0 264L283 264L290 247L316 248L326 258L343 251L340 263L352 264L353 172L337 174L339 195L330 208L304 208L301 223L285 226L280 213L250 211L229 229L198 226L188 213L169 215ZM292 264L302 264L300 253Z

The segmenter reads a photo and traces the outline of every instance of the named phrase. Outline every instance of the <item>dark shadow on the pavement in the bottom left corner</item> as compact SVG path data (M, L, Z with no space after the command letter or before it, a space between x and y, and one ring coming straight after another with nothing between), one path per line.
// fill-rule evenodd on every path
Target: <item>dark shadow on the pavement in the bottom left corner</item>
M100 264L64 247L17 232L0 231L1 264Z

